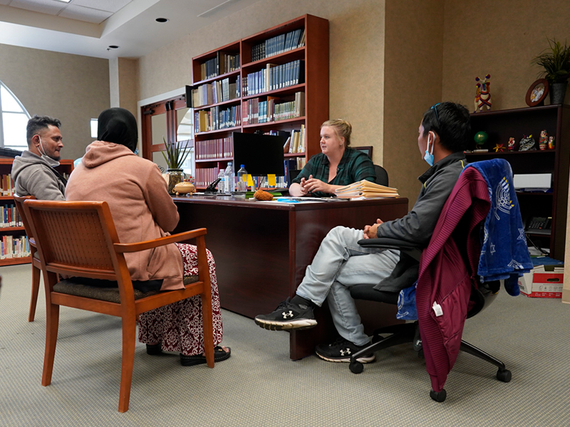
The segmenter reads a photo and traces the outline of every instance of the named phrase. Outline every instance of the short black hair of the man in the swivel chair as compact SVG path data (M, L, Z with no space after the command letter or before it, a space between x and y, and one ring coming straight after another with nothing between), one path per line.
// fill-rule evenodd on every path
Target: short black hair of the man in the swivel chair
M455 102L440 102L423 113L423 135L432 130L440 136L440 143L451 152L467 148L471 135L469 111Z

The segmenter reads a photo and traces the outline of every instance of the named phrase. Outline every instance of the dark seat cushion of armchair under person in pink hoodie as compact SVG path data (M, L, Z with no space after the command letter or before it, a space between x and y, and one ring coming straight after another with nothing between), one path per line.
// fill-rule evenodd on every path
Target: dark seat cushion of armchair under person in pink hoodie
M119 288L117 282L112 282L110 280L100 280L101 283L106 285L105 287L100 287L84 285L83 283L79 283L77 279L80 278L61 280L61 282L53 285L53 291L65 293L68 295L76 295L78 297L91 298L93 300L102 300L120 304ZM190 285L190 283L195 283L197 281L197 275L185 276L183 280L185 285ZM144 297L150 297L150 295L155 295L158 292L160 291L151 290L150 292L141 292L140 290L135 289L135 300L140 300L140 298Z

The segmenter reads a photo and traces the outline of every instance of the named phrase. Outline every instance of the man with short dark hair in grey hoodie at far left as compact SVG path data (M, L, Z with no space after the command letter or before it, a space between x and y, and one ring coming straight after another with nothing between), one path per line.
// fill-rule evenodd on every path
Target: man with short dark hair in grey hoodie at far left
M34 115L28 120L28 149L16 156L12 176L16 194L40 200L65 200L66 179L54 167L59 166L61 122L48 116Z

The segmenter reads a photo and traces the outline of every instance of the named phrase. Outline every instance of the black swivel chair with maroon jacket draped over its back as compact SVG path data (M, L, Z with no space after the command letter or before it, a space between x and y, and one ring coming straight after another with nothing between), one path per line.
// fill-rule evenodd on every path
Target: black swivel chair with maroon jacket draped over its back
M361 246L368 248L386 248L386 249L397 249L400 252L406 253L415 260L420 261L422 255L422 248L418 248L411 243L405 241L398 241L390 238L375 238L366 239L358 242ZM466 261L467 262L467 261ZM481 312L484 307L487 307L494 297L497 296L499 291L500 283L498 281L484 283L483 285L478 285L475 288L474 285L471 287L470 296L470 310L467 312L467 318L477 315ZM351 288L351 296L355 300L371 300L377 302L385 302L388 304L398 304L398 293L394 292L380 292L371 288L369 285L355 285ZM383 334L390 334L388 337L383 337ZM354 374L360 374L364 367L361 362L357 359L371 352L377 352L378 350L385 349L388 347L393 347L398 344L413 343L413 348L418 352L419 357L423 357L422 343L420 339L420 332L418 328L418 322L405 323L400 325L391 325L389 327L381 328L376 330L373 334L372 344L366 349L362 349L360 352L356 352L351 355L351 362L349 368ZM492 357L490 354L478 349L477 347L465 342L463 339L460 344L460 351L472 354L480 359L483 359L491 364L494 364L497 370L497 379L508 383L511 381L511 372L506 369L504 363L499 359ZM430 391L430 397L435 401L445 401L447 393L445 389L441 391Z

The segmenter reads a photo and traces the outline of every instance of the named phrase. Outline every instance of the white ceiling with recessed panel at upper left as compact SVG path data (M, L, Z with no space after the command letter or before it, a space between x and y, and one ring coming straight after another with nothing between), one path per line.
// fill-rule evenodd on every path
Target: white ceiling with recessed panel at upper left
M257 1L0 0L0 43L96 58L139 58ZM158 23L157 18L169 21Z

